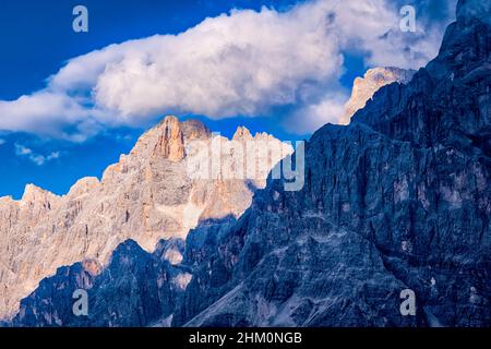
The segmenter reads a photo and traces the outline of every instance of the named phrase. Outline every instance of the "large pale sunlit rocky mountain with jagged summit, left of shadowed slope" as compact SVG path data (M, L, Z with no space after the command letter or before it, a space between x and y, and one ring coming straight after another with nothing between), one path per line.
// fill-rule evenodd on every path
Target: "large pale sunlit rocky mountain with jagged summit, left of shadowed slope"
M267 167L263 174L248 179L233 176L232 169L232 176L224 178L221 167L216 179L193 179L187 147L214 142L226 148L231 141L212 135L199 121L167 117L142 135L130 154L109 166L100 181L81 179L63 196L29 184L20 201L1 197L0 318L12 315L19 301L62 265L85 258L106 265L128 239L153 251L163 238L185 238L201 220L240 216L253 192L265 185L271 168L292 152L270 135L252 136L242 128L233 144L262 140L278 145L270 163L263 163ZM225 164L230 156L223 152L219 157ZM172 253L168 257L178 258Z

